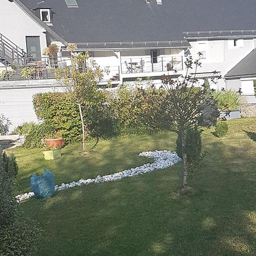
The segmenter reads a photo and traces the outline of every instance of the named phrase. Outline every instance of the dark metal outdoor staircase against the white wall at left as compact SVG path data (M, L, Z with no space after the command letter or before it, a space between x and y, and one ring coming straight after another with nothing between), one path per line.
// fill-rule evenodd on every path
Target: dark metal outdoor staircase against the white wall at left
M22 48L11 42L8 38L0 33L0 62L6 66L26 65L28 59L32 56L28 55Z

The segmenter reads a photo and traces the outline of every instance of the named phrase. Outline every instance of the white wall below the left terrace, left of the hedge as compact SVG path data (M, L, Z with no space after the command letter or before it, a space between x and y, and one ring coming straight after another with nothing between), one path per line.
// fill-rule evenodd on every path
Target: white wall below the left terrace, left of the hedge
M0 113L10 119L10 130L24 122L38 122L33 109L32 97L36 93L63 92L63 88L24 88L0 90Z

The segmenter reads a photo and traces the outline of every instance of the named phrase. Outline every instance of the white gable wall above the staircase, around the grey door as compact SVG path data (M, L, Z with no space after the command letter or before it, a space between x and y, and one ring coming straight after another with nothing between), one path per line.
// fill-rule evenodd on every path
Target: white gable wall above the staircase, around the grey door
M47 47L44 28L14 2L1 0L0 33L27 52L26 36L40 36L41 52Z

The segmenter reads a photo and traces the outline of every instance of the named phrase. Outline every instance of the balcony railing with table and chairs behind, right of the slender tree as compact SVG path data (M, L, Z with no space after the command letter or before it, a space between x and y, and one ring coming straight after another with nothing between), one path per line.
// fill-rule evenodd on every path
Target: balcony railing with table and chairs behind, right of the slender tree
M123 74L182 71L183 56L122 58L121 67Z

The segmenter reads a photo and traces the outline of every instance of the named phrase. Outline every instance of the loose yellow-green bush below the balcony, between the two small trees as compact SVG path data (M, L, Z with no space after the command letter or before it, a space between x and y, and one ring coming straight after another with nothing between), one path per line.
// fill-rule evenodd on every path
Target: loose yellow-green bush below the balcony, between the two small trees
M110 109L116 119L119 134L145 134L159 131L159 101L165 96L164 90L146 90L123 86L110 95ZM161 113L160 113L161 112ZM168 117L166 117L168 118Z

